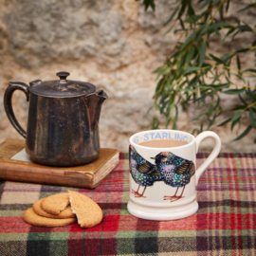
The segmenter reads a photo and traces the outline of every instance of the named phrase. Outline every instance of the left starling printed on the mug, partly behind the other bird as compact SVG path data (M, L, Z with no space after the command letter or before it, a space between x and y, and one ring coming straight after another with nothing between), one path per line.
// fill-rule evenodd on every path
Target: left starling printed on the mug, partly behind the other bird
M132 190L136 197L145 197L144 192L147 187L153 186L155 181L160 181L161 177L159 172L156 171L155 165L147 161L137 153L137 150L130 145L130 173L133 179L138 184L137 191ZM144 187L142 193L139 193L140 186Z

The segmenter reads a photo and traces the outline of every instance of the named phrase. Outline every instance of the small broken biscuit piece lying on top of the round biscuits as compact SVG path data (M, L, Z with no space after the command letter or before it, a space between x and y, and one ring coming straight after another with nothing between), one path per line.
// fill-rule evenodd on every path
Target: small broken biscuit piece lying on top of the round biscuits
M49 195L42 200L41 208L51 214L59 214L69 205L69 195L61 192Z

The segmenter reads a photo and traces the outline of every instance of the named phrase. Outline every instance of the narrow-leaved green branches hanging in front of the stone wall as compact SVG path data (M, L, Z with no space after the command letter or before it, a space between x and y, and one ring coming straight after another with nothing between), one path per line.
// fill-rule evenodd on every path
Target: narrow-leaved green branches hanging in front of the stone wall
M242 119L246 118L249 123L247 129L235 139L247 136L250 130L256 129L256 85L249 84L251 78L256 77L256 69L243 69L240 57L246 52L255 52L256 41L248 42L245 48L216 56L210 51L210 39L218 37L220 42L225 43L229 38L232 42L238 34L255 34L255 27L241 21L235 13L231 21L225 17L230 0L176 2L165 26L171 31L177 27L174 24L179 24L180 28L174 30L174 33L180 36L165 63L154 71L157 80L155 109L165 117L166 127L172 126L175 129L177 105L181 104L187 109L195 104L201 110L198 128L193 131L197 133L209 129L224 114L231 118L219 125L230 123L231 130L239 128ZM145 9L155 9L154 0L144 0L143 4ZM239 12L254 8L255 3ZM234 79L239 82L234 82ZM239 103L232 109L225 109L221 97L223 94L237 97ZM155 115L152 128L158 125L159 120Z

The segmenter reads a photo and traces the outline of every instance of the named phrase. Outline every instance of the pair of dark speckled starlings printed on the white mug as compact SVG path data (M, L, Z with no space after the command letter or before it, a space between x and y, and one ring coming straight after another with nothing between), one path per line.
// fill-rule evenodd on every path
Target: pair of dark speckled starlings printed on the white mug
M166 185L176 188L174 195L164 196L164 200L171 202L183 198L185 187L190 183L192 175L195 173L194 163L171 152L161 152L151 157L155 159L155 164L150 163L136 149L130 146L130 173L138 184L137 191L132 190L136 197L145 197L144 192L148 186L153 186L155 181L163 181ZM139 187L144 190L139 193ZM179 188L182 192L177 195Z

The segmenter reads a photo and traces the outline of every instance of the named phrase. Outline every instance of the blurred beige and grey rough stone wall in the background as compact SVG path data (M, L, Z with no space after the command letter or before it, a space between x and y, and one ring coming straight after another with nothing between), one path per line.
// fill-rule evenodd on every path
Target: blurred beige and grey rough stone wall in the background
M151 127L152 71L177 39L173 33L164 35L163 27L174 3L159 0L155 12L145 12L134 0L0 0L0 142L7 137L22 139L3 108L9 81L55 80L55 73L64 70L71 73L70 80L91 82L107 92L109 99L101 112L101 146L127 151L128 138ZM255 13L246 16L254 19ZM218 45L213 42L213 50L220 51ZM15 92L13 105L26 128L25 95ZM192 132L193 117L193 111L182 112L178 129ZM236 134L228 126L212 130L220 135L223 151L256 151L253 133L230 142ZM200 150L209 150L209 145L205 141Z

